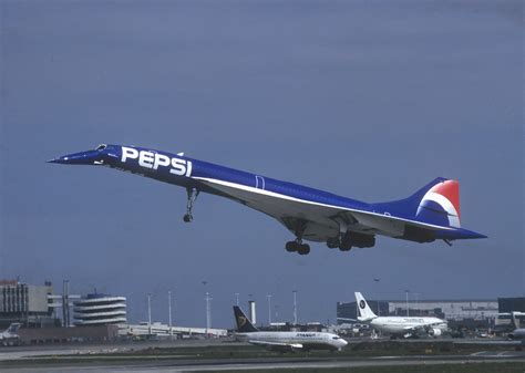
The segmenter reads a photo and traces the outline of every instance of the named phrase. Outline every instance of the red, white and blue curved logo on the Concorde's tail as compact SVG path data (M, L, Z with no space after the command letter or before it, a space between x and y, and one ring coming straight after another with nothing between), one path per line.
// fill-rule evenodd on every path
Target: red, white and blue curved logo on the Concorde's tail
M415 214L422 220L440 219L449 227L461 228L460 183L444 180L434 185L421 199Z

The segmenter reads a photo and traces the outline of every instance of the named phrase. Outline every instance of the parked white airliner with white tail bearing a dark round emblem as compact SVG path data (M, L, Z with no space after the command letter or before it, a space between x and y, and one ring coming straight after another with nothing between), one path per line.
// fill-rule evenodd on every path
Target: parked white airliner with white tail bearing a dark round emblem
M368 305L363 296L356 292L360 322L366 322L370 327L390 333L393 338L410 338L426 333L431 336L439 336L449 330L445 320L437 318L404 318L404 317L378 317Z

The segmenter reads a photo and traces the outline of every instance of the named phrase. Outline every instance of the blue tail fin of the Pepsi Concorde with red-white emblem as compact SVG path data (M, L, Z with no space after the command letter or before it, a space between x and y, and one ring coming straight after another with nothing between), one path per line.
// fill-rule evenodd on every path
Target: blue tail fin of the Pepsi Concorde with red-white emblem
M461 228L460 183L457 180L437 177L409 198L375 204L375 206L418 221Z

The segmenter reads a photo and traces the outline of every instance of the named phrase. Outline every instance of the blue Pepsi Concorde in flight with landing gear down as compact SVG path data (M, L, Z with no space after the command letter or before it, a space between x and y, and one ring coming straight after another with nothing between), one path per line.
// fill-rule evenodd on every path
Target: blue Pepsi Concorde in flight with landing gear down
M373 247L377 235L415 242L441 239L447 245L456 239L486 237L461 228L459 183L442 177L408 198L368 204L197 160L184 153L171 154L137 146L102 144L95 149L49 162L107 166L184 187L187 191L186 222L193 220L193 206L199 193L229 198L282 224L295 236L286 244L286 250L299 255L310 252L306 240L348 251L352 247Z

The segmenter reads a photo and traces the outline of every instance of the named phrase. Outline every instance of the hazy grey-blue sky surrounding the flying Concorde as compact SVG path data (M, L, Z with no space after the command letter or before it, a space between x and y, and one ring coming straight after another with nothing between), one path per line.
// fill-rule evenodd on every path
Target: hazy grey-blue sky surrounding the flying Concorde
M334 322L336 303L525 296L523 2L0 0L0 278L127 297L128 319ZM130 144L364 201L461 184L484 240L286 252L276 220L110 168ZM374 278L380 278L374 282ZM203 283L206 282L206 284ZM413 296L412 296L413 297Z

